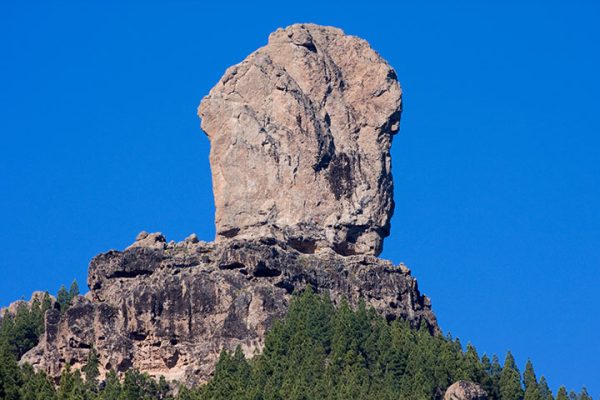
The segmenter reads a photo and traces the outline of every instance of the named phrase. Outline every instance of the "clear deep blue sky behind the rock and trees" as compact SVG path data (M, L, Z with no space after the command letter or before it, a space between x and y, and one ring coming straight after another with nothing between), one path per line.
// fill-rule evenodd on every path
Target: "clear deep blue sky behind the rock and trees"
M383 256L463 343L600 398L598 2L222 3L2 2L0 304L141 230L212 239L198 103L277 27L336 25L404 89Z

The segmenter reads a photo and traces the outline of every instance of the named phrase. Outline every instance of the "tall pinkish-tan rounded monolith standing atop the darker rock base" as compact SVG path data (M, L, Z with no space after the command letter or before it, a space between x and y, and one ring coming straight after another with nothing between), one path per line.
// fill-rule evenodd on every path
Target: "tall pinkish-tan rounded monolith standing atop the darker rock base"
M303 253L378 255L394 203L401 90L369 44L279 29L229 68L198 113L211 142L217 241L277 238Z

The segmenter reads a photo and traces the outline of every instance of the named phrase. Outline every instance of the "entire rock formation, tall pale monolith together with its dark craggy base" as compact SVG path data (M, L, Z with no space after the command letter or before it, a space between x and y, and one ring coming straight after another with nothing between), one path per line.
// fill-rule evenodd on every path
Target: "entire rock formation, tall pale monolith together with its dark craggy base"
M90 292L46 314L23 360L58 377L94 348L101 372L203 382L221 349L259 351L307 286L438 331L410 271L375 257L393 212L400 98L396 74L364 40L309 24L274 32L199 108L217 240L142 232L98 255Z

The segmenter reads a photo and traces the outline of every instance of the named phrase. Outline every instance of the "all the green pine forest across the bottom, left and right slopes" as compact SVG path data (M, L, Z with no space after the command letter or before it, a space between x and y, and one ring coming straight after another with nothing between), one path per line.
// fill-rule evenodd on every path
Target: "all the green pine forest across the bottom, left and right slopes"
M64 304L78 292L71 289L62 291ZM136 370L120 377L109 371L100 381L94 349L81 371L64 369L57 387L45 374L20 367L17 357L37 342L44 307L25 307L1 321L0 399L174 400L164 378ZM11 339L15 332L18 339ZM356 309L344 301L334 308L329 297L306 290L267 333L262 354L247 360L241 347L223 351L213 378L197 388L180 387L177 400L431 400L459 379L481 384L491 400L554 400L533 364L521 377L510 352L501 367L498 357L480 359L473 345L463 350L458 339L432 334L425 323L418 329L389 323L364 302ZM561 388L557 400L571 399L591 397L585 389L576 395Z

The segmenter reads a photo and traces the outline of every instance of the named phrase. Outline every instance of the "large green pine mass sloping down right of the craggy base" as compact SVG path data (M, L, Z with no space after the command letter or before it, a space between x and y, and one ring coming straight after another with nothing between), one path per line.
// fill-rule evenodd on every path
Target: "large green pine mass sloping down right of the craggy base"
M416 330L388 323L364 303L335 309L328 297L307 290L267 334L261 355L249 362L239 348L223 352L214 379L182 390L179 399L430 400L459 379L481 384L493 400L552 399L530 362L524 392L510 352L501 367L498 357L480 359L473 345L463 351L458 340L432 335L425 324Z

